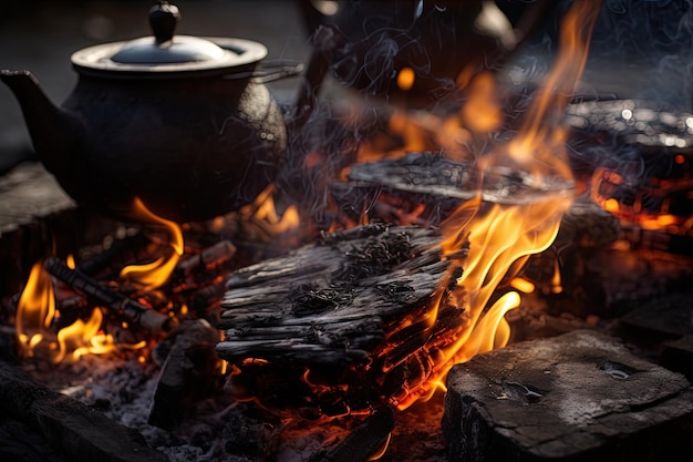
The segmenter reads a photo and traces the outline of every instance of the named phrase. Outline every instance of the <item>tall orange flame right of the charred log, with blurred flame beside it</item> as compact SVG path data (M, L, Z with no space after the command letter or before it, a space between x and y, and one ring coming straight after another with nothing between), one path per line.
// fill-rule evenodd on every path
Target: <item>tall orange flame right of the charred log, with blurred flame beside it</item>
M420 386L410 387L406 393L391 399L399 409L433 394L455 363L504 347L509 340L510 327L505 315L519 306L520 296L508 291L490 306L489 300L501 279L516 271L518 261L551 245L561 217L572 203L575 186L565 152L567 131L561 119L582 73L599 7L598 0L572 3L562 21L558 58L526 113L520 131L509 143L477 158L482 191L442 224L443 255L458 261L451 265L451 274L437 289L426 320L430 331L434 332L441 304L454 304L464 307L461 312L465 317L465 328L444 348L441 340L431 335L431 346L424 347L431 351L427 359L430 373ZM467 150L468 142L475 136L487 136L503 125L490 75L476 75L467 88L473 92L458 114L442 120L417 113L403 121L402 112L397 112L397 119L395 123L391 121L391 125L399 129L397 133L414 126L415 130L403 136L406 140L424 133L426 140L435 140L438 146L449 147L457 143L451 155L459 156L458 153ZM425 144L420 138L402 151L421 148ZM366 154L361 158L372 158L373 151L372 146L366 146ZM484 191L485 186L510 176L523 178L523 194L494 193L494 201L487 202L490 195ZM468 251L461 251L466 245ZM453 273L455 267L464 268L461 277ZM445 295L451 283L456 289L452 296ZM527 284L516 284L531 289ZM556 287L560 290L560 280L556 281ZM444 295L446 300L443 300Z

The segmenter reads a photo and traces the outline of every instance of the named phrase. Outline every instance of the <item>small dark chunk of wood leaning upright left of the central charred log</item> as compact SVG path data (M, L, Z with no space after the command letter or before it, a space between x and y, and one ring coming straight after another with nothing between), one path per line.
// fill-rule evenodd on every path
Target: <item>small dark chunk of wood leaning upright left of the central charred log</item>
M173 346L162 366L148 418L149 424L163 429L178 425L193 403L211 394L220 377L215 351L219 331L209 322L197 319L172 336L165 340Z

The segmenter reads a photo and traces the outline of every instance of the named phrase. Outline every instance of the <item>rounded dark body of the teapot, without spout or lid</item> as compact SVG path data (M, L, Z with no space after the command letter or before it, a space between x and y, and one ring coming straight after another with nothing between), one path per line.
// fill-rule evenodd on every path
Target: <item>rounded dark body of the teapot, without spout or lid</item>
M236 211L272 181L286 148L281 111L249 79L80 75L62 107L83 133L44 163L80 205L116 216L135 197L175 222Z

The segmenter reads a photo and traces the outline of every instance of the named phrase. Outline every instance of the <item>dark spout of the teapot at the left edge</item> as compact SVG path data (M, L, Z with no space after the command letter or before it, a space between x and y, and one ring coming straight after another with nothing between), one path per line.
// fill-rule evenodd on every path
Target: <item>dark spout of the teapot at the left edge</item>
M81 119L55 106L29 71L0 70L0 80L19 101L37 156L59 176L71 163L83 131Z

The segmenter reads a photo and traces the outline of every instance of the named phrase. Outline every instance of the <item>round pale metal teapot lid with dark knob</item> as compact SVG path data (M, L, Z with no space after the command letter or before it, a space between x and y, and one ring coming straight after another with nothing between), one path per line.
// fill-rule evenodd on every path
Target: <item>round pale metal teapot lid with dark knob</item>
M178 8L159 1L149 10L153 37L82 49L72 64L80 73L164 78L228 73L267 55L265 45L249 40L174 35L179 21Z

